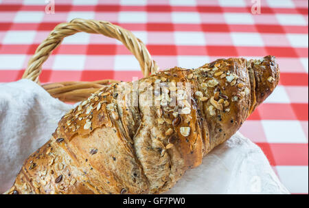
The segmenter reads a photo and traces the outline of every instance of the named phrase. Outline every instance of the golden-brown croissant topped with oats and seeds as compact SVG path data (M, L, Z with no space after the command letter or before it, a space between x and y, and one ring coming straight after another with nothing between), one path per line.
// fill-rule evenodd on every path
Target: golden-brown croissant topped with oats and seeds
M266 56L106 86L62 117L6 194L165 192L229 139L278 82L275 58Z

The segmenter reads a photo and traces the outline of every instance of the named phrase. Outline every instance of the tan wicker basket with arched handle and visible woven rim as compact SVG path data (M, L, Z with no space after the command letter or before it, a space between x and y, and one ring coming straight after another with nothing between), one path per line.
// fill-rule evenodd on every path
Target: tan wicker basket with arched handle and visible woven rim
M144 77L148 77L151 73L157 73L158 66L156 62L152 60L144 43L142 43L139 38L135 37L132 32L107 21L73 19L69 23L60 23L57 25L45 41L38 46L34 56L30 58L27 69L25 69L22 78L40 84L38 76L40 76L42 65L45 60L47 60L52 51L60 45L63 38L78 32L103 34L110 38L116 38L131 51L135 58L137 58ZM99 80L95 82L57 82L43 84L41 86L43 86L50 95L62 100L63 102L79 102L89 97L91 93L94 93L103 86L113 82L119 81Z

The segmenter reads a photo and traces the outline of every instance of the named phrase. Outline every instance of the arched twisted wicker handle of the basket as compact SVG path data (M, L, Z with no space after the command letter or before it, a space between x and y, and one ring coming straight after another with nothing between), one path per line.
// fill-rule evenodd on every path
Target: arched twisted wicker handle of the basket
M38 76L40 76L45 60L60 45L63 38L78 32L103 34L104 36L116 38L137 58L144 77L149 76L150 73L157 73L157 64L152 60L144 43L136 38L132 32L107 21L73 19L69 23L60 23L57 25L45 41L38 46L34 56L28 62L23 78L39 83Z

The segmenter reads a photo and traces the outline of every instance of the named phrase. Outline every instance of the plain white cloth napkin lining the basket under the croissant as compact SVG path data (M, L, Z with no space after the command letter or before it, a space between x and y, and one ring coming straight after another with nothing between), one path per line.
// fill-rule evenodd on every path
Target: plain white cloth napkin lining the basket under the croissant
M0 193L73 106L30 80L0 84ZM240 133L188 170L166 194L288 194L262 150Z

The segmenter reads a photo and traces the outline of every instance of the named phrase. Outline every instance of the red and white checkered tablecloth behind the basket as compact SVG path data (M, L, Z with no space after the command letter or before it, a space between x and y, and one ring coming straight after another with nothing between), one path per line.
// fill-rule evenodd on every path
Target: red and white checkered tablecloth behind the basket
M0 82L19 80L39 43L60 22L102 19L133 31L162 68L198 67L216 58L277 57L281 81L240 132L258 144L284 185L308 194L308 1L0 0ZM118 41L76 34L43 65L41 82L141 78Z

